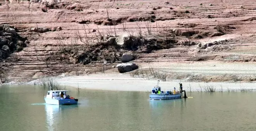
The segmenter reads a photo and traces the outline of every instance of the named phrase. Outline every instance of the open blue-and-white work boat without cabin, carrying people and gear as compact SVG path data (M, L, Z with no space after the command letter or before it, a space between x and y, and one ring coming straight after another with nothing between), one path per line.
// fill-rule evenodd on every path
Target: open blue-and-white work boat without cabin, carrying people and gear
M178 98L182 98L184 92L185 91L171 92L170 90L167 90L164 93L163 91L161 91L161 87L155 86L154 88L152 88L151 94L149 94L149 99L154 99L154 100L178 99Z

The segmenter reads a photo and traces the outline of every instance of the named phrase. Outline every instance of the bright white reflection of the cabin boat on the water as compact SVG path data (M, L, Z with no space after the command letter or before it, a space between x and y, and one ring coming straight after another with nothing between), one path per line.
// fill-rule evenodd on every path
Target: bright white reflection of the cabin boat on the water
M45 104L45 113L46 113L46 123L47 123L47 128L48 131L56 131L57 127L56 125L60 123L63 114L66 111L72 110L77 108L78 105L50 105L50 104Z

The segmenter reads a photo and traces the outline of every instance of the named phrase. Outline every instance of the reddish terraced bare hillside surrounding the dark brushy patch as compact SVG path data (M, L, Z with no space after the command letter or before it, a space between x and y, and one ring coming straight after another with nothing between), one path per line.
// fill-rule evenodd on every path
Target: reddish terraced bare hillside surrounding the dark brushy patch
M205 50L199 52L196 45L189 47L180 45L150 54L135 52L135 62L182 62L197 56L213 55L249 56L249 60L254 59L256 2L252 0L170 0L168 2L166 3L166 0L54 0L52 5L46 5L43 2L0 0L0 24L15 26L17 33L22 37L28 37L30 41L23 51L12 54L2 62L2 66L9 69L9 79L14 81L32 79L37 72L57 75L74 69L84 71L99 69L97 63L96 66L67 64L69 63L67 59L61 60L54 56L54 52L59 50L60 40L70 44L77 32L82 34L82 39L90 38L95 41L98 32L103 36L106 34L139 36L139 30L145 39L168 39L173 37L171 33L173 30L216 32L216 27L227 28L224 30L225 35L201 39L192 37L191 40L207 43L232 39L228 43L230 49L220 52ZM108 20L108 16L111 20ZM31 32L31 28L35 27L52 30L61 27L61 30ZM177 37L177 39L184 41L186 37ZM79 42L79 44L84 43ZM105 68L112 65L115 63Z

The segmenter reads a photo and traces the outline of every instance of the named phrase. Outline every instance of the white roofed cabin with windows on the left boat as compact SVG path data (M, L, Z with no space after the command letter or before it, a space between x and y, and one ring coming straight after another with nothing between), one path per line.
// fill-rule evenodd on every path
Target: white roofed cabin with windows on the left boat
M46 99L65 99L68 91L47 91ZM67 99L67 98L66 98Z

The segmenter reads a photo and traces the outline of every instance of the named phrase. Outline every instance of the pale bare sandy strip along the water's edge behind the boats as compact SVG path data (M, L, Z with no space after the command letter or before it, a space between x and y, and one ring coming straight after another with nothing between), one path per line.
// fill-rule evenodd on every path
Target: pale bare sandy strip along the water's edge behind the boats
M145 80L131 78L127 74L95 74L90 76L68 76L57 79L61 85L80 87L81 89L111 90L111 91L151 91L157 85L157 80ZM256 89L255 82L187 82L187 81L166 81L159 82L162 90L178 89L179 82L182 82L183 89L190 91L201 91L201 87L214 86L216 91L240 91L244 89ZM199 86L200 85L200 86ZM204 89L202 88L202 91Z

